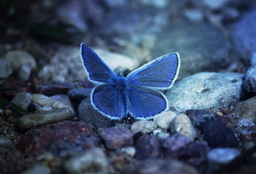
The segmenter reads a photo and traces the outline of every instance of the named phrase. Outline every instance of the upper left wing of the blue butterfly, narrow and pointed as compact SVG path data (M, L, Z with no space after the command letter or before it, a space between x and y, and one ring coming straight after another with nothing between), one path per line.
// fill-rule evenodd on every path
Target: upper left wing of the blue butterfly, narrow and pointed
M83 43L81 44L81 59L91 81L104 83L115 81L115 72L93 49Z

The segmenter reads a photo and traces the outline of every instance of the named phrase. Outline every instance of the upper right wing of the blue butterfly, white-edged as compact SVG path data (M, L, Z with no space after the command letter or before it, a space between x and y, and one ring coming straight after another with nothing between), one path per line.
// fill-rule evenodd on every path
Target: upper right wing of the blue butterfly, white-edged
M172 87L179 74L178 53L170 53L150 61L127 75L131 85L166 89Z

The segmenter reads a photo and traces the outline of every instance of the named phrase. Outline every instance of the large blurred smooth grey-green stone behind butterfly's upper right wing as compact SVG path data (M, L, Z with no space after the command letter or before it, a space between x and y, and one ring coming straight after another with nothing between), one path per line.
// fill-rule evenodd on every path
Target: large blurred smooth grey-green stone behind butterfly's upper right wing
M156 57L178 52L181 66L178 79L204 72L218 71L229 63L229 42L207 23L172 21L158 35L152 50Z

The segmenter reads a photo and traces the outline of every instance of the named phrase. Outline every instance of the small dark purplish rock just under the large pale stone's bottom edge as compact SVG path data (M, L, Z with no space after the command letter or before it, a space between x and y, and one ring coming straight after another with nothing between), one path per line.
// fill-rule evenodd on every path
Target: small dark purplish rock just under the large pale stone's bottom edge
M187 116L195 126L200 126L206 119L214 116L210 111L207 110L186 110Z

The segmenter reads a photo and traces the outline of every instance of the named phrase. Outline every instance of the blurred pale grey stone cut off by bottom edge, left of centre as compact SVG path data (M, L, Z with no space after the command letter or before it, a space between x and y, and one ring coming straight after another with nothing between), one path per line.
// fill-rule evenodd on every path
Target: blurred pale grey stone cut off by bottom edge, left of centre
M101 148L84 151L65 162L67 173L109 173L109 162Z

